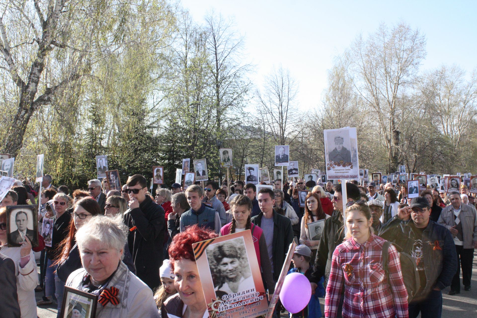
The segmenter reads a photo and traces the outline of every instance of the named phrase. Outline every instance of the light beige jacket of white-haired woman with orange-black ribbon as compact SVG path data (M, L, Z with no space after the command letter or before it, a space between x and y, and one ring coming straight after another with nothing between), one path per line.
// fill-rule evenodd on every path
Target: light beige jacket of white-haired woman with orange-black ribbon
M86 274L84 268L75 270L66 281L66 286L82 290L83 277ZM108 302L104 307L98 303L96 318L135 318L147 317L158 318L159 311L152 294L151 288L147 287L142 280L129 271L121 261L116 273L108 283L108 288L114 286L119 289L119 304L114 306Z

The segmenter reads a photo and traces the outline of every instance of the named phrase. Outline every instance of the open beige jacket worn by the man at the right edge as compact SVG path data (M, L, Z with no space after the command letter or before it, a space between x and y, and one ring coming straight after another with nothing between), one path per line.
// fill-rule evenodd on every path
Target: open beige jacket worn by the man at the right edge
M474 241L477 241L477 214L476 209L470 205L461 203L459 219L462 222L462 234L464 238L464 248L474 248ZM440 225L450 229L455 226L454 211L452 205L447 205L442 209L441 215L437 220ZM456 237L452 234L452 237Z

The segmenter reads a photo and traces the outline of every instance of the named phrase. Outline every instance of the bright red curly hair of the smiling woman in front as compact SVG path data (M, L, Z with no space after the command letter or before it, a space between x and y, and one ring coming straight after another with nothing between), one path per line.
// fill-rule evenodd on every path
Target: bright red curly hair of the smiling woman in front
M192 244L215 238L217 236L218 235L213 230L198 226L197 224L187 226L184 232L177 234L172 239L172 243L169 246L169 259L172 262L178 261L181 258L195 261L196 258L194 256Z

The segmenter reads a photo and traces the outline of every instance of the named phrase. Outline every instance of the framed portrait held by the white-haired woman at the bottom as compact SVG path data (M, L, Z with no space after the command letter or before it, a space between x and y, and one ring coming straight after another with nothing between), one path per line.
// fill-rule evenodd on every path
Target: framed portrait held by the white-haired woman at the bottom
M96 317L97 305L98 295L90 294L82 290L65 286L60 317L94 318Z

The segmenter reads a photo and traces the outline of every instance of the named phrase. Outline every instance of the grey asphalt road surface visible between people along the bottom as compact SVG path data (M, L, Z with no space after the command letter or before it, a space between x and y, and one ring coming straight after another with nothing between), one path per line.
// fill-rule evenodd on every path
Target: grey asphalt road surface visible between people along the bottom
M442 318L476 318L477 317L477 251L474 254L474 267L472 271L472 289L464 291L461 287L461 292L458 295L449 296L447 292L450 290L447 287L443 290L443 312ZM36 299L40 300L43 292L36 293ZM320 299L321 310L324 309L324 299ZM53 302L50 306L38 307L39 318L55 318L56 317L56 303ZM281 315L285 317L284 315ZM324 316L324 315L323 315ZM420 317L420 316L419 316Z

